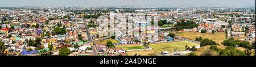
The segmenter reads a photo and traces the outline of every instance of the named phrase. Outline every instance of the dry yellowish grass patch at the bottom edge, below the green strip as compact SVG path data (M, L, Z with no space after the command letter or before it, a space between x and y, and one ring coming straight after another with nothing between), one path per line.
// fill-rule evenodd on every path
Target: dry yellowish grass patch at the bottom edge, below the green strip
M156 56L155 51L153 50L146 50L146 51L130 51L126 52L127 56L134 56L135 54L141 55L141 56Z

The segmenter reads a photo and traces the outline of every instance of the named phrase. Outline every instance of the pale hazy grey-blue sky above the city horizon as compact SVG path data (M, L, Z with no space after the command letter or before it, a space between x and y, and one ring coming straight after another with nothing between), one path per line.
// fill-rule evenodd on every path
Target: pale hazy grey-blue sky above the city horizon
M19 6L255 6L255 0L0 0L0 7Z

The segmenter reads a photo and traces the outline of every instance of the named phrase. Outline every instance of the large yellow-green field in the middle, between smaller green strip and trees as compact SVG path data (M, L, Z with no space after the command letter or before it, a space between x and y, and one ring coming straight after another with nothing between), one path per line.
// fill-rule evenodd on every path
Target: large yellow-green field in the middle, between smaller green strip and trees
M162 52L162 51L174 51L174 49L185 49L185 46L193 47L193 45L198 46L199 44L191 43L189 41L176 41L171 43L160 43L160 44L150 44L150 47L155 52Z

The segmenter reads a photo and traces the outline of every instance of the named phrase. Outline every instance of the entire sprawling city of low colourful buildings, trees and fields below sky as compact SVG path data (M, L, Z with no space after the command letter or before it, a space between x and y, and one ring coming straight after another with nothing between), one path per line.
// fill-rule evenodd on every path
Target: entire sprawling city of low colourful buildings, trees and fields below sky
M255 1L0 2L0 56L255 56Z

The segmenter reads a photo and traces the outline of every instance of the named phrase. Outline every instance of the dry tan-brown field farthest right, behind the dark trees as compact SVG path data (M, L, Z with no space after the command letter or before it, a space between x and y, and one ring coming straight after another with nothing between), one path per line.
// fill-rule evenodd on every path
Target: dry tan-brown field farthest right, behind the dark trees
M203 37L203 39L207 38L216 43L221 44L224 40L226 40L226 33L200 33L200 32L179 32L174 33L177 36L183 36L186 39L196 40L196 37Z

